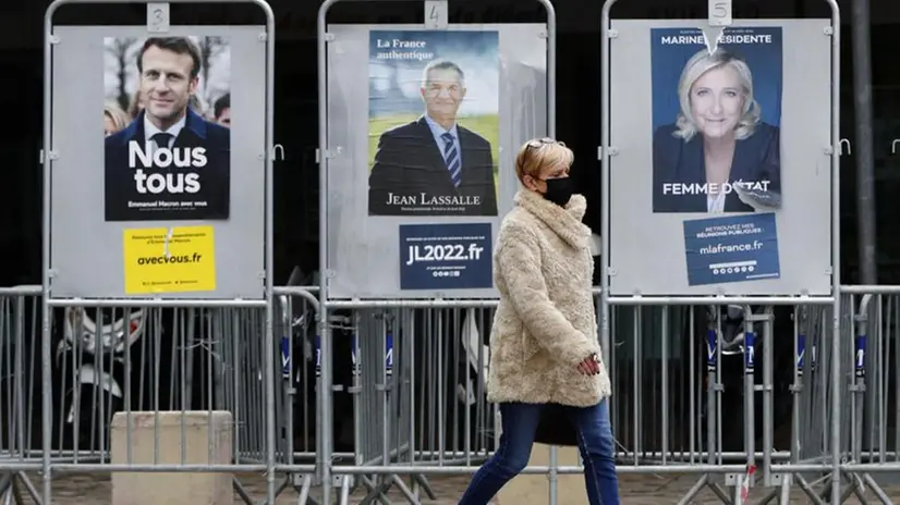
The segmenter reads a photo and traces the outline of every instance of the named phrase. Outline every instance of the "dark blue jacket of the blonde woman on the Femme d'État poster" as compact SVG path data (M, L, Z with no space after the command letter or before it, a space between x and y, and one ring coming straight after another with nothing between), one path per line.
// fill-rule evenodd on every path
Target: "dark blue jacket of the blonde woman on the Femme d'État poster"
M690 188L706 184L703 135L688 141L676 137L677 126L660 126L653 135L653 211L707 212L707 195ZM781 192L779 128L759 123L755 132L734 145L728 183L765 182L769 192ZM723 212L752 212L737 192L727 193Z

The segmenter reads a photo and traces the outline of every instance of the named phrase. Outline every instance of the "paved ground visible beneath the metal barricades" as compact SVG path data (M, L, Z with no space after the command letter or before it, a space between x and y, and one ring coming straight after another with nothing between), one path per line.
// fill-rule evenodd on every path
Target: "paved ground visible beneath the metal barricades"
M40 490L40 480L36 476L32 476L33 483ZM621 492L623 503L632 505L672 505L677 503L684 493L696 481L693 477L686 476L622 476ZM262 478L242 478L242 482L251 497L257 503L265 498L266 488L265 480ZM462 490L465 488L467 478L439 478L433 479L433 485L438 494L437 501L423 501L423 504L434 505L450 505L455 504ZM900 503L900 486L886 490L893 503ZM759 503L759 498L765 496L765 490L757 489L751 493L750 503ZM354 494L354 500L351 503L360 503L363 493ZM866 493L866 498L872 503L877 503L872 492ZM392 492L390 495L392 504L404 504L402 498L397 493ZM297 493L294 491L285 491L282 493L277 503L295 504ZM34 502L26 500L26 503ZM110 503L110 481L108 477L102 476L65 476L59 477L53 484L53 500L54 505L87 505L87 504L108 504ZM242 505L240 497L235 494L235 505ZM547 498L544 496L535 497L533 504L546 504ZM721 503L715 498L709 491L704 491L695 504L714 504ZM799 491L794 491L791 496L792 504L810 503ZM858 500L850 500L848 504L864 503ZM520 504L511 504L520 505ZM560 504L567 505L567 504Z

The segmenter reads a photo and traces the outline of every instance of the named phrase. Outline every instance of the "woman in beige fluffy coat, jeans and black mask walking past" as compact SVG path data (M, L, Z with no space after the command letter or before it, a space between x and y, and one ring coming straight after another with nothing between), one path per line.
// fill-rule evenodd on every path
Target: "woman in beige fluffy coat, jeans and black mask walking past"
M460 505L486 505L522 471L542 418L557 414L574 429L591 505L619 505L609 375L591 293L591 230L581 222L587 205L573 195L573 159L551 138L526 143L515 158L522 188L494 254L500 304L490 332L488 401L499 403L502 433Z

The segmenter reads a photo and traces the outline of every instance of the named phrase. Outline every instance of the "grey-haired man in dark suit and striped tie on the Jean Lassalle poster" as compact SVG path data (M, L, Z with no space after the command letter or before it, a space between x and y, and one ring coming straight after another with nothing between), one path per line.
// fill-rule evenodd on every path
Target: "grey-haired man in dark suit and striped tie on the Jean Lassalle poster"
M490 144L457 124L465 75L447 60L424 72L425 114L381 135L369 215L497 215Z

